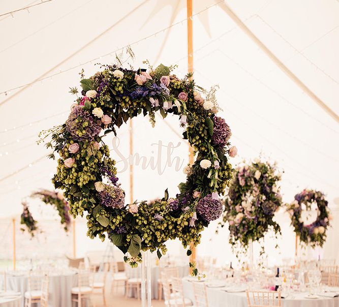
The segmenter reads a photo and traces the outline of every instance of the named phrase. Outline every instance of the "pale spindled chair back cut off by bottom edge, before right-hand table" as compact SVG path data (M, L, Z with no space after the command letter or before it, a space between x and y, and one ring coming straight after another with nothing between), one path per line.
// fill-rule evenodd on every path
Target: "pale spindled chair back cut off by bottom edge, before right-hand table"
M280 291L246 291L248 307L280 307Z

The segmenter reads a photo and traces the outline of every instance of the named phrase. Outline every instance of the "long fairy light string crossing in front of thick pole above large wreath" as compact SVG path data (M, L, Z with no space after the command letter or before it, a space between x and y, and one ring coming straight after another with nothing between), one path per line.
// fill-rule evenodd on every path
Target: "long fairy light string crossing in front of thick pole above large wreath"
M49 1L51 1L51 0L49 0ZM223 2L225 2L225 0L221 0L221 1L219 1L219 2L217 2L217 3L215 3L215 4L213 4L213 5L211 5L211 6L207 7L207 8L205 8L204 10L201 10L201 11L199 11L198 13L193 14L192 17L195 17L195 16L197 16L197 15L199 15L199 14L201 14L201 13L207 11L207 10L209 10L209 9L212 8L212 7L218 6L220 3L223 3ZM156 37L158 34L161 34L163 31L166 31L166 30L172 28L173 26L176 26L176 25L178 25L178 24L181 24L181 22L184 22L184 21L187 21L187 20L188 20L188 18L184 18L184 19L182 19L182 20L180 20L180 21L178 21L178 22L172 23L170 26L165 27L165 28L162 28L161 30L158 30L157 32L155 32L155 33L153 33L153 34L150 34L150 35L148 35L148 36L146 36L146 37L144 37L144 38L142 38L142 39L139 39L139 40L137 40L137 41L134 41L134 42L132 42L132 43L126 45L126 46L123 46L123 47L121 47L121 48L118 47L117 49L115 49L115 50L113 50L113 51L110 51L110 52L108 52L108 53L106 53L106 54L103 54L103 55L101 55L101 56L95 57L95 58L93 58L93 59L87 60L86 62L83 62L83 63L81 63L81 64L79 64L79 65L75 65L75 66L70 67L70 68L65 69L65 70L59 69L59 72L56 72L56 73L51 74L51 75L49 75L49 76L46 76L46 77L44 77L44 78L37 79L37 80L35 80L35 81L33 81L33 82L29 82L29 83L26 83L26 84L22 84L22 85L16 86L16 87L13 87L13 88L11 88L11 89L7 89L7 90L0 91L0 95L4 94L5 96L7 96L7 95L9 95L9 94L11 93L11 91L13 91L13 90L20 89L20 88L23 88L23 87L26 87L26 86L32 86L33 84L35 84L35 83L37 83L37 82L44 81L44 80L46 80L46 79L49 79L49 78L51 78L51 77L58 76L58 75L60 75L60 74L63 74L63 73L65 73L65 72L71 71L71 70L76 69L76 68L79 68L79 67L84 66L84 65L86 65L86 64L89 64L89 63L91 63L91 62L95 62L95 61L97 61L97 60L99 60L99 59L101 59L101 58L103 58L103 57L110 56L112 53L116 53L116 52L118 52L118 51L120 51L120 50L124 50L124 49L126 49L126 48L128 48L128 47L130 47L130 46L137 45L137 44L139 44L140 42L142 42L142 41L144 41L144 40L147 40L147 39L149 39L149 38ZM4 102L0 103L0 105L2 105L3 103L4 103Z

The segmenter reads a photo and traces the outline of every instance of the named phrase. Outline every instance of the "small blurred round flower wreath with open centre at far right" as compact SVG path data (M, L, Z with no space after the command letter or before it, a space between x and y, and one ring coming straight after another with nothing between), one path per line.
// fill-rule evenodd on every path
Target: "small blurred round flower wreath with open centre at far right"
M317 204L318 216L316 221L305 225L301 219L302 205L305 205L306 210L311 210L312 203ZM322 192L305 189L295 195L294 201L287 205L295 233L299 236L301 242L306 245L310 244L313 248L317 245L322 247L326 241L326 230L331 220L327 204L328 202Z

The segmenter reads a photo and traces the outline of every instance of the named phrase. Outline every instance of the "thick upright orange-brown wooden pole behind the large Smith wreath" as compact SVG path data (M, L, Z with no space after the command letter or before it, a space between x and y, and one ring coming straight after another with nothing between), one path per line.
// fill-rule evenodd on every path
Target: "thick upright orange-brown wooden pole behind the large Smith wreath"
M188 72L193 73L193 3L192 0L187 0L187 51L188 51ZM189 162L190 165L194 163L193 148L189 144ZM190 244L192 254L190 262L196 261L196 248L193 242ZM190 268L192 273L192 268Z

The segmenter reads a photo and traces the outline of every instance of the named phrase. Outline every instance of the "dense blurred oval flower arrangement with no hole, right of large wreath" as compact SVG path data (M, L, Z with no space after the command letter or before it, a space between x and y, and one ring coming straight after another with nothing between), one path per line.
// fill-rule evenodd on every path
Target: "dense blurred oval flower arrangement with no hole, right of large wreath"
M273 221L282 205L280 180L276 165L260 159L235 170L220 223L224 227L228 222L233 247L240 244L246 251L249 243L263 238L270 228L280 233L280 226Z

